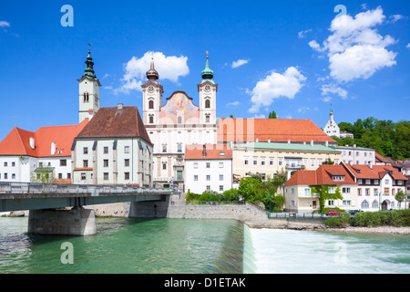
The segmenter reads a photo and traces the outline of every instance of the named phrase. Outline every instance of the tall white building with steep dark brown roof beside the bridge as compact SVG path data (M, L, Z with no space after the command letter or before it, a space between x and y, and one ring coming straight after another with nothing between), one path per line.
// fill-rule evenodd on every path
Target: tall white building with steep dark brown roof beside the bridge
M74 140L73 182L152 186L152 159L136 106L100 108Z

